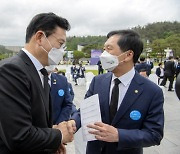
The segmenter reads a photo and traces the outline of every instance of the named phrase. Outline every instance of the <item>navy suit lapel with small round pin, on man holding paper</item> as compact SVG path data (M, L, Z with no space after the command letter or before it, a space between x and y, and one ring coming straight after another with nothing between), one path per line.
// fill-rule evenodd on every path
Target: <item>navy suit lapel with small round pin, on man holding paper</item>
M129 88L124 96L124 99L112 121L112 125L115 125L119 119L123 117L126 111L135 103L136 99L141 95L143 89L141 88L140 79L138 80L139 74L135 74L134 78L132 79Z

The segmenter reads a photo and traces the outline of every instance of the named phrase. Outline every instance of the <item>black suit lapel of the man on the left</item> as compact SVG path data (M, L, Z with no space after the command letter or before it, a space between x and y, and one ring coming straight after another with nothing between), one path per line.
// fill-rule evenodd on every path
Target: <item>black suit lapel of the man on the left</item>
M24 51L20 51L18 53L18 55L23 59L23 61L28 65L28 70L29 70L29 75L31 76L32 79L36 80L36 84L37 84L37 87L40 91L40 95L43 99L43 103L44 103L44 107L45 107L45 110L46 110L46 116L47 116L47 121L49 121L49 102L47 102L46 98L45 98L45 93L44 93L44 89L43 89L43 86L42 86L42 82L41 82L41 79L39 77L39 74L34 66L34 64L32 63L32 61L30 60L30 58L26 55L26 53Z

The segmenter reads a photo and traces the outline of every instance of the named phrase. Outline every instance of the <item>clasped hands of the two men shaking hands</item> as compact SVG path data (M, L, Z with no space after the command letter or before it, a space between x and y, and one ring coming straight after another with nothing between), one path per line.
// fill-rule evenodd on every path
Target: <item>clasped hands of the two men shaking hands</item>
M54 129L59 129L62 133L62 143L72 142L76 132L76 122L74 120L63 121L58 125L53 125Z

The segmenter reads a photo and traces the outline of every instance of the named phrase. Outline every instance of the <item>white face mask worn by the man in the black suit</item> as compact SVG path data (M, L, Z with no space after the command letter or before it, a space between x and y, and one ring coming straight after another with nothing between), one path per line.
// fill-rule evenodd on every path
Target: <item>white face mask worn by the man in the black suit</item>
M45 34L44 34L45 35ZM46 35L45 35L46 37ZM64 46L61 46L59 49L52 47L51 43L46 37L46 40L48 41L49 45L51 46L51 50L47 52L46 49L44 49L42 46L41 48L48 53L48 63L49 65L58 65L58 63L63 60L63 54L64 54Z

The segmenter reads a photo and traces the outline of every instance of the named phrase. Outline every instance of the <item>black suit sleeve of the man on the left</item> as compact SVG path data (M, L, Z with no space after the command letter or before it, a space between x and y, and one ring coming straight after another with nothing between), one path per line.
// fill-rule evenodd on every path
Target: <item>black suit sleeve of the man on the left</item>
M0 67L0 137L12 152L56 151L61 132L32 124L30 81L20 67ZM38 103L38 102L37 102Z

